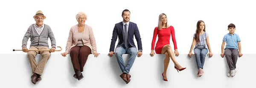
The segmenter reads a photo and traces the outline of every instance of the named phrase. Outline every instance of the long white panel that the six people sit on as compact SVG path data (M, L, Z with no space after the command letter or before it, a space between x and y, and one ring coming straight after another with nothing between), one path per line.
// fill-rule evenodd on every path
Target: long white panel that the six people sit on
M196 77L197 66L195 57L188 58L182 54L175 57L176 60L187 69L177 72L174 64L170 61L167 70L168 82L162 80L164 55L149 54L136 58L131 68L131 82L125 82L119 77L121 70L115 56L109 58L107 54L94 58L89 55L84 66L84 78L80 81L73 78L73 66L70 56L62 57L52 54L45 66L42 80L36 85L32 84L32 75L26 54L0 54L0 88L241 88L255 86L254 76L256 65L255 54L245 54L237 61L237 73L233 78L227 77L228 66L225 58L219 54L207 57L204 65L204 75ZM123 55L125 62L128 55ZM36 56L39 62L41 55Z

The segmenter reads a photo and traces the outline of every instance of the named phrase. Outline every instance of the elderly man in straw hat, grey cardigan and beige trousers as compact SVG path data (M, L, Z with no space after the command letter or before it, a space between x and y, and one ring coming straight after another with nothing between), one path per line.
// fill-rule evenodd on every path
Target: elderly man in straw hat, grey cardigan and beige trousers
M44 16L42 11L37 11L34 16L35 24L29 26L22 40L22 50L23 52L28 53L28 59L33 73L33 75L31 76L31 81L34 84L42 80L41 75L44 71L44 66L46 65L50 57L50 52L54 52L56 46L56 41L52 33L52 29L49 27L49 25L44 24L45 18L46 16ZM31 41L29 50L49 51L28 51L26 45L29 38ZM51 40L51 49L49 49L48 38L50 38ZM42 58L38 64L35 60L35 56L37 54L42 55Z

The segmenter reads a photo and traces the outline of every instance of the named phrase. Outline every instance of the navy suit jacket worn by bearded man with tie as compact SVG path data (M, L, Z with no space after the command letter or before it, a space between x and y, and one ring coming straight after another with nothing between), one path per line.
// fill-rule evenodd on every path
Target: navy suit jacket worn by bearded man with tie
M124 34L124 29L123 29L123 24L122 22L119 22L115 25L114 29L113 29L113 34L112 34L112 39L111 39L111 45L110 45L110 50L109 52L113 51L115 49L115 44L116 44L116 40L117 40L117 36L118 36L118 44L116 47L120 47L124 41L123 38L123 34ZM133 23L133 22L129 22L129 26L128 26L128 43L132 46L135 47L134 44L134 36L137 40L137 44L138 44L138 50L142 50L142 43L141 43L141 38L140 38L140 32L139 29L137 27L137 24Z

